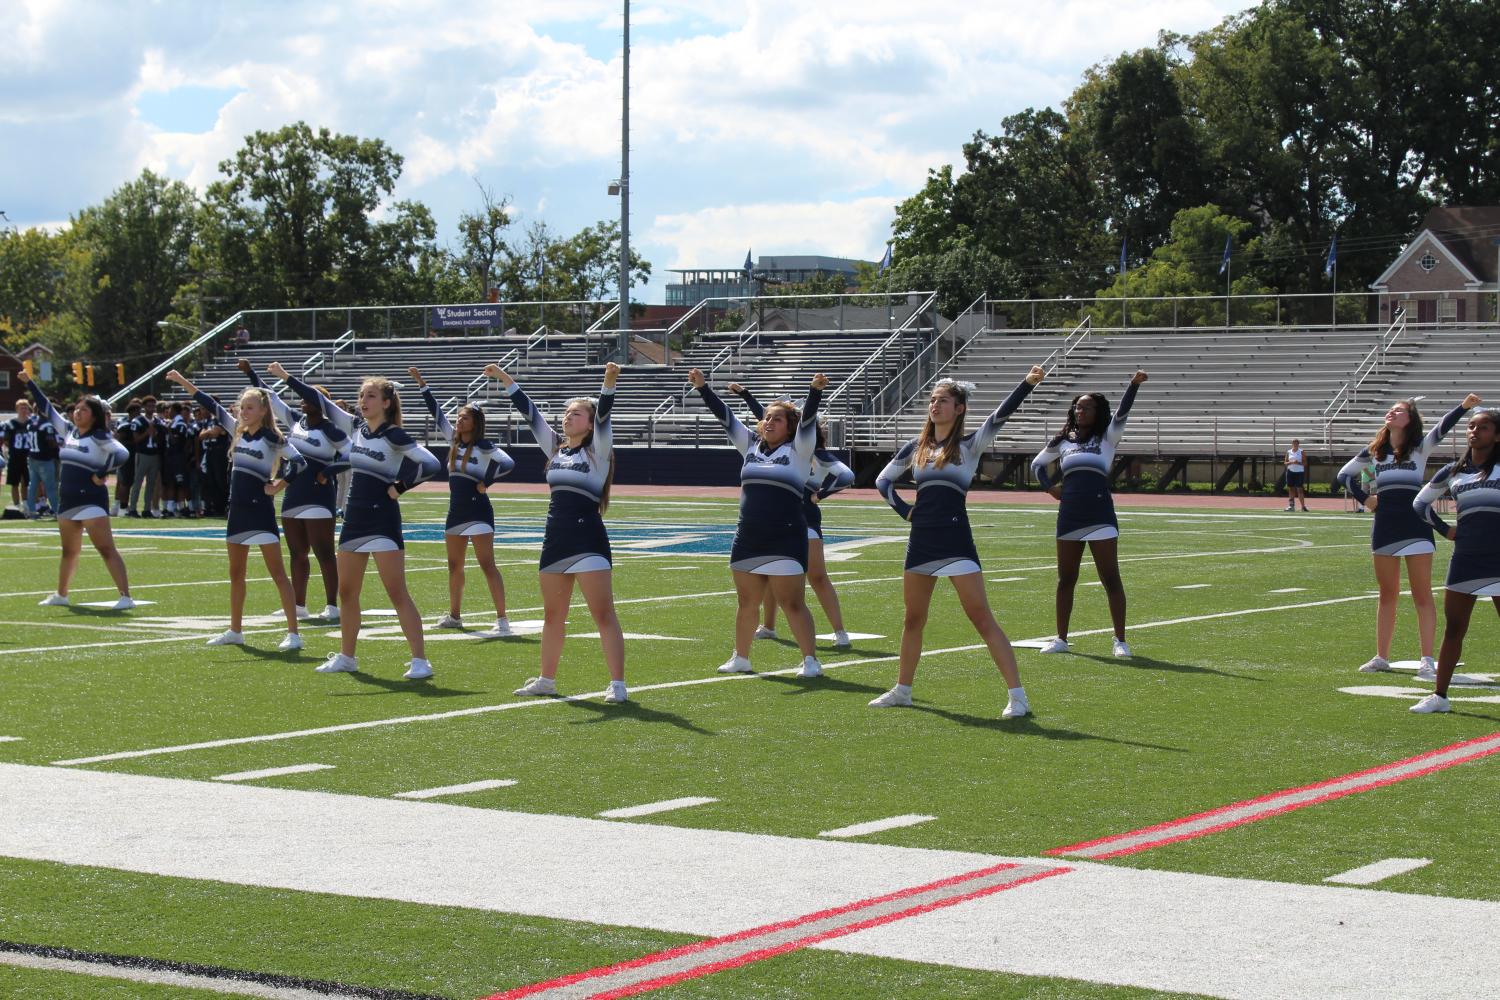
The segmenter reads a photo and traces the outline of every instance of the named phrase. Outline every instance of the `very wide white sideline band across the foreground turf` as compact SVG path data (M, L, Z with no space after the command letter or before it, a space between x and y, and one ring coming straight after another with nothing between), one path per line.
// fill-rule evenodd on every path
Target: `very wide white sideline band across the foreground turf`
M0 856L694 936L1004 862L1054 867L22 765L0 765ZM1437 1000L1494 982L1492 955L1474 942L1500 936L1500 903L1066 864L1059 877L814 946L1240 1000ZM1412 928L1442 961L1413 960Z

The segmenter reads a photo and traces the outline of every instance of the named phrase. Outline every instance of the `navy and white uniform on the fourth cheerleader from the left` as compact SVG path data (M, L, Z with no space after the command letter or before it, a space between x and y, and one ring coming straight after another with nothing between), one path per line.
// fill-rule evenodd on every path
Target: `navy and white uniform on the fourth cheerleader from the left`
M291 379L286 382L291 385ZM318 393L318 390L312 390ZM406 547L400 534L400 504L390 487L405 493L442 471L436 456L392 423L370 430L363 420L318 393L324 420L350 436L350 496L344 502L339 552L398 552ZM332 477L330 477L332 480Z

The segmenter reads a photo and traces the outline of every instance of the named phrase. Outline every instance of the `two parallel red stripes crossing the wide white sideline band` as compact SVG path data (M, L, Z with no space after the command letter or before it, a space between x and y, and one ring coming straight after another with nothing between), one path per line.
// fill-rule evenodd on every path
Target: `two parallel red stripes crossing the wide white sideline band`
M1017 867L1016 864L1000 864L1000 865L993 865L990 868L981 868L978 871L969 871L969 873L963 873L963 874L958 874L958 876L951 876L948 879L940 879L938 882L930 882L927 885L912 886L909 889L900 889L898 892L891 892L891 894L880 895L880 897L872 897L868 900L860 900L856 903L849 903L849 904L844 904L844 906L831 907L831 909L826 909L826 910L819 910L816 913L808 913L808 915L792 918L792 919L788 919L788 921L778 921L776 924L765 924L762 927L750 928L747 931L738 931L735 934L728 934L724 937L712 937L712 939L705 939L702 942L693 942L692 945L680 945L678 948L670 948L670 949L668 949L664 952L656 952L652 955L642 955L640 958L633 958L630 961L616 963L614 966L602 966L598 969L591 969L591 970L586 970L586 972L572 973L568 976L561 976L558 979L549 979L546 982L532 984L530 987L520 987L518 990L508 990L506 993L496 993L496 994L483 997L483 1000L519 1000L520 997L530 997L532 994L543 993L546 990L556 990L560 987L570 987L573 984L584 982L586 979L598 979L602 976L610 976L614 973L628 972L632 969L640 969L644 966L654 966L654 964L662 963L662 961L669 961L669 960L674 960L674 958L681 958L684 955L692 955L692 954L702 952L702 951L706 951L706 949L711 949L711 948L718 948L722 945L732 945L735 942L748 940L752 937L762 937L765 934L771 934L771 933L776 933L776 931L784 931L784 930L790 930L790 928L795 928L795 927L802 927L806 924L812 924L812 922L816 922L816 921L824 921L824 919L828 919L831 916L842 916L844 913L852 913L852 912L856 912L856 910L864 910L864 909L868 909L872 906L878 906L880 903L891 903L892 900L909 898L909 897L918 895L921 892L930 892L933 889L942 889L942 888L946 888L946 886L960 885L960 883L964 883L964 882L972 882L975 879L982 879L984 876L992 876L992 874L996 874L996 873L1000 873L1000 871L1008 871L1008 870L1016 868L1016 867ZM942 907L954 906L957 903L964 903L968 900L978 900L981 897L993 895L996 892L1002 892L1005 889L1012 889L1016 886L1023 886L1023 885L1030 883L1030 882L1038 882L1041 879L1050 879L1052 876L1060 876L1060 874L1064 874L1066 871L1071 871L1071 868L1065 868L1065 867L1064 868L1052 868L1048 871L1042 871L1042 873L1038 873L1038 874L1034 874L1034 876L1024 876L1024 877L1016 879L1012 882L1004 882L1004 883L999 883L999 885L994 885L994 886L986 886L984 889L976 889L974 892L968 892L968 894L963 894L963 895L950 897L950 898L938 900L938 901L933 901L933 903L924 903L921 906L915 906L915 907L910 907L908 910L898 910L896 913L886 913L885 916L870 918L867 921L855 921L852 924L846 924L843 927L836 927L836 928L824 931L820 934L810 934L807 937L795 939L795 940L790 940L790 942L783 942L783 943L776 945L772 948L756 949L756 951L746 952L744 955L736 955L734 958L728 958L728 960L723 960L723 961L706 963L704 966L696 966L693 969L684 970L681 973L674 973L670 976L660 976L657 979L648 979L648 981L644 981L644 982L639 982L639 984L632 984L628 987L621 987L618 990L612 990L612 991L608 991L608 993L594 994L594 997L591 997L591 1000L608 1000L608 999L612 999L612 997L630 997L630 996L634 996L634 994L639 994L639 993L646 993L646 991L651 991L651 990L660 990L662 987L668 987L668 985L672 985L672 984L676 984L676 982L684 982L687 979L699 979L702 976L708 976L708 975L712 975L716 972L722 972L722 970L726 970L726 969L738 969L740 966L747 966L750 963L762 961L762 960L766 960L766 958L774 958L776 955L783 955L783 954L786 954L789 951L796 951L796 949L801 949L801 948L807 948L808 945L816 945L818 942L824 942L824 940L828 940L831 937L842 937L844 934L854 934L855 931L862 931L862 930L867 930L870 927L879 927L882 924L891 924L892 921L902 921L902 919L906 919L906 918L910 918L910 916L918 916L921 913L927 913L930 910L938 910L938 909L942 909Z

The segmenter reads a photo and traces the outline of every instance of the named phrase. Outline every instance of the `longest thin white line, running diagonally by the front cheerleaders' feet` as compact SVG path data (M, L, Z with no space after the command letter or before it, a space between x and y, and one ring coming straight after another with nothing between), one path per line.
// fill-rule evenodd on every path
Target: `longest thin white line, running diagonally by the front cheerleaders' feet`
M1305 609L1305 607L1323 607L1326 604L1346 604L1348 601L1368 601L1368 600L1370 600L1370 595L1335 597L1335 598L1329 598L1326 601L1306 601L1306 603L1302 603L1302 604L1278 604L1278 606L1272 606L1272 607L1251 607L1251 609L1245 609L1245 610L1239 610L1239 612L1216 612L1214 615L1196 615L1196 616L1188 616L1188 618L1170 618L1170 619L1160 621L1160 622L1137 622L1136 625L1130 625L1128 628L1131 631L1138 631L1138 630L1143 630L1143 628L1160 628L1160 627L1166 627L1166 625L1185 625L1185 624L1191 624L1191 622L1214 621L1214 619L1221 619L1221 618L1238 618L1240 615L1264 615L1264 613L1270 613L1270 612L1294 612L1294 610L1300 610L1300 609ZM1090 628L1090 630L1084 630L1084 631L1074 631L1074 633L1071 633L1071 637L1072 639L1078 639L1082 636L1104 636L1104 634L1108 634L1112 631L1113 631L1113 628ZM1014 642L1011 645L1014 645L1014 646L1029 646L1030 643L1042 643L1047 639L1048 637L1022 639L1022 640ZM142 642L150 642L150 640L142 640ZM114 643L114 645L130 645L130 643ZM945 649L926 649L926 651L922 651L922 655L924 657L940 657L940 655L945 655L945 654L950 654L950 652L974 652L976 649L986 649L986 648L987 646L984 643L969 643L966 646L948 646ZM900 660L898 654L891 654L888 657L861 657L858 660L836 660L836 661L824 663L824 670L832 670L836 667L862 667L862 666L868 666L872 663L896 663L897 660ZM642 691L668 691L668 690L672 690L672 688L698 687L700 684L730 684L730 682L736 682L736 681L753 681L754 678L790 676L790 675L796 673L798 670L801 670L801 667L786 667L784 670L764 670L764 672L758 672L758 673L723 673L723 675L712 675L712 676L706 676L706 678L692 678L688 681L664 681L662 684L645 684L645 685L640 685L640 687L636 687L636 688L632 688L632 690L634 693L638 693L638 694L642 693ZM264 735L260 735L260 736L231 736L228 739L208 739L208 741L198 742L198 744L177 744L177 745L172 745L172 747L152 747L150 750L122 750L122 751L117 751L117 753L98 754L98 756L93 756L93 757L74 757L70 760L54 760L52 763L57 765L57 766L62 766L62 768L70 768L70 766L76 766L76 765L102 763L102 762L106 762L106 760L132 760L132 759L136 759L136 757L156 757L156 756L160 756L160 754L180 754L180 753L194 751L194 750L214 750L214 748L219 748L219 747L240 747L240 745L244 745L244 744L267 744L267 742L278 742L278 741L282 741L282 739L298 739L302 736L322 736L322 735L327 735L327 733L351 733L351 732L362 730L362 729L381 729L384 726L406 726L410 723L438 723L438 721L444 721L444 720L450 720L450 718L465 718L465 717L470 717L470 715L489 715L490 712L508 712L508 711L514 711L514 709L540 708L543 705L567 705L568 702L586 702L586 700L598 699L598 697L603 697L603 693L592 691L590 694L568 694L566 697L558 697L558 699L526 699L525 702L501 702L500 705L477 705L474 708L460 708L460 709L453 709L450 712L430 712L430 714L426 714L426 715L398 715L394 718L366 720L363 723L340 723L338 726L318 726L318 727L312 727L312 729L294 729L294 730L288 730L288 732L284 732L284 733L264 733Z

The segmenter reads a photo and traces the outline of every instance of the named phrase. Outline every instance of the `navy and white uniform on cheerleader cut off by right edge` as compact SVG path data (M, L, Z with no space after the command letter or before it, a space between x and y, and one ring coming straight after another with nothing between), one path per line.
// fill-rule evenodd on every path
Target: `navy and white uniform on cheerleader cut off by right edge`
M1458 505L1458 535L1448 564L1446 589L1474 597L1500 597L1500 463L1488 471L1449 462L1412 502L1424 523L1448 537L1448 523L1434 504L1448 493ZM1376 513L1386 505L1380 501Z

